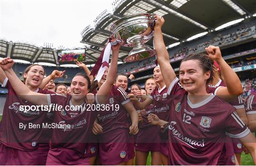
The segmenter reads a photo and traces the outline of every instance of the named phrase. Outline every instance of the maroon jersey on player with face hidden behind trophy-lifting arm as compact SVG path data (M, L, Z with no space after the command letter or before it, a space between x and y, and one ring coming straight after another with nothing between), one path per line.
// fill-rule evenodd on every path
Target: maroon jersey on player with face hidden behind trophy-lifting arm
M97 104L100 104L97 96L95 97L95 100ZM109 106L110 110L108 111L105 109L97 112L98 123L103 128L101 134L113 131L117 128L129 128L127 111L123 107L123 105L127 104L129 101L130 99L127 98L126 92L121 87L113 85L108 101L105 104L105 108ZM119 105L119 109L117 109L117 105Z

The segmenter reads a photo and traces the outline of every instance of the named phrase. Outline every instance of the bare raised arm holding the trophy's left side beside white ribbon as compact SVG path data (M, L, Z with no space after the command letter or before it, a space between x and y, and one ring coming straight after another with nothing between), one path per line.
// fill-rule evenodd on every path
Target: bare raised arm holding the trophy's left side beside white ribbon
M101 104L105 104L109 94L110 90L115 82L116 79L116 73L117 73L117 67L118 67L118 54L119 54L119 48L121 44L112 45L112 59L110 68L107 74L106 81L101 85L100 89L98 90L98 93L96 94L96 97ZM100 97L99 97L100 96Z

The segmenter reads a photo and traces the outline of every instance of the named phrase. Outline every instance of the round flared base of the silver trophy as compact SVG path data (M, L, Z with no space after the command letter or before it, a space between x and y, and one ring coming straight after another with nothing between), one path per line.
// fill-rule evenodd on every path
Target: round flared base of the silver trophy
M156 52L154 49L146 49L140 52L134 52L134 50L132 50L129 53L129 55L124 59L124 61L125 62L140 61L155 55L156 55Z

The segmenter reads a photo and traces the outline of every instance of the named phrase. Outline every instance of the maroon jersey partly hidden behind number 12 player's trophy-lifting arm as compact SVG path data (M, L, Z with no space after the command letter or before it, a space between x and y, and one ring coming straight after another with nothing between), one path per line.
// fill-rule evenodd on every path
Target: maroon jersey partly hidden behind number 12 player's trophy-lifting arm
M168 121L170 114L171 97L167 95L167 88L164 86L162 89L155 87L154 91L149 96L153 100L154 110L159 119Z

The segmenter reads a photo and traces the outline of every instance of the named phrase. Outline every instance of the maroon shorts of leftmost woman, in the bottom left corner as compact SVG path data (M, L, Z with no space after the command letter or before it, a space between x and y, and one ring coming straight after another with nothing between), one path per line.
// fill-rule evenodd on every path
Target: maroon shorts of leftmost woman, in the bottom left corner
M0 143L0 165L34 165L38 163L38 151L22 151Z

